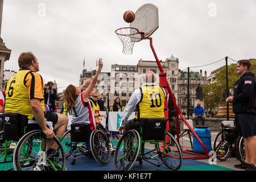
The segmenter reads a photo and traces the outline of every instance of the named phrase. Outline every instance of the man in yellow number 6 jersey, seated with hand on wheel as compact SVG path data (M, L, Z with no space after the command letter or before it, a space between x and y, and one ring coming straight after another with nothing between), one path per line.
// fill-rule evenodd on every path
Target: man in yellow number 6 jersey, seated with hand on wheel
M36 73L39 71L38 59L32 52L22 52L19 55L18 64L19 71L10 78L5 87L5 115L10 115L10 118L15 121L18 120L16 122L19 130L23 129L28 121L36 121L46 138L52 139L55 134L62 137L68 124L68 117L59 113L46 112L43 78ZM47 121L53 123L55 132L47 127ZM13 130L11 135L14 135ZM55 147L53 144L49 153L54 152Z

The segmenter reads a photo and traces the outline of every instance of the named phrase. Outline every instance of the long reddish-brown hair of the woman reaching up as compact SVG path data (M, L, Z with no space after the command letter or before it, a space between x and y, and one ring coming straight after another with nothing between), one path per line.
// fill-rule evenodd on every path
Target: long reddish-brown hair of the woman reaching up
M68 85L64 92L65 105L67 107L68 113L72 115L72 106L75 105L77 93L76 88L73 85Z

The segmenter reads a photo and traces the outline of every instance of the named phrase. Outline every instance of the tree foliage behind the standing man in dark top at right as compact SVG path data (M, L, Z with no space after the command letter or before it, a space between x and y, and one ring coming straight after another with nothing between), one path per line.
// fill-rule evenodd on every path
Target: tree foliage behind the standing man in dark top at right
M237 64L228 66L228 88L234 88L234 84L240 78L236 71ZM256 61L251 61L250 71L256 73ZM226 89L226 67L216 72L216 82L203 87L203 98L205 108L214 110L219 104L225 105L224 90ZM226 98L226 96L225 96Z

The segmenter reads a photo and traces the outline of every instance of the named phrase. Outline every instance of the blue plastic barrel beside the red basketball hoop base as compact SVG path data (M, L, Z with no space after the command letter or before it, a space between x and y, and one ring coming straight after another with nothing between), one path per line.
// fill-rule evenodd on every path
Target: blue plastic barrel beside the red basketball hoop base
M204 143L207 151L212 150L212 134L210 133L210 129L207 126L196 126L194 129L197 136ZM196 139L195 135L193 135L193 151L197 154L205 154L203 146L199 143L199 140Z

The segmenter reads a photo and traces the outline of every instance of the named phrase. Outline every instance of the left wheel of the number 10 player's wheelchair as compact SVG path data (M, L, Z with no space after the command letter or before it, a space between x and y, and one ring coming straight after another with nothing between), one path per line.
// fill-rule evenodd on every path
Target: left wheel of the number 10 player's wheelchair
M115 149L115 169L117 171L127 171L131 169L138 158L140 147L141 139L138 131L125 131L123 136L119 139L117 148Z

